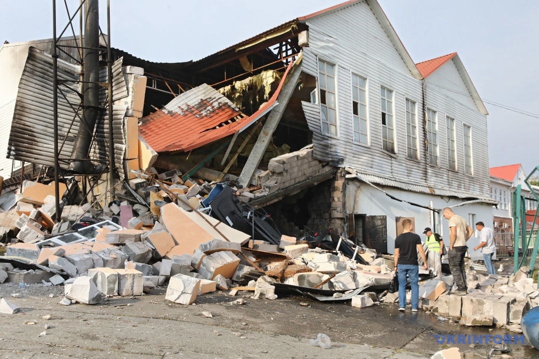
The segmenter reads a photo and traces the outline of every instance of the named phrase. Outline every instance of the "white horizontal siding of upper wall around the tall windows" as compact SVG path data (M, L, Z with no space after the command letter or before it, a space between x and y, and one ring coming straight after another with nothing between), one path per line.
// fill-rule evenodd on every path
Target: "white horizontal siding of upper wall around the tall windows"
M336 26L338 24L338 26ZM438 188L451 188L455 191L479 193L488 197L488 165L479 158L478 152L487 152L486 119L474 107L461 105L451 97L427 98L427 103L440 112L446 105L455 109L455 118L465 118L473 122L474 177L466 177L464 169L458 173L446 170L445 152L445 114L439 114L440 168L429 166L425 156L424 114L422 111L422 83L413 78L395 46L378 23L374 12L365 3L350 5L342 10L329 13L307 22L309 25L309 47L304 49L304 71L317 74L317 57L337 64L337 116L339 137L321 135L318 105L303 102L307 122L313 131L314 156L321 160L333 158L333 164L352 167L357 170L379 174L385 178L396 178L432 185ZM353 142L351 112L351 73L367 78L369 145ZM431 75L431 76L434 76ZM429 80L431 77L429 77ZM455 80L457 82L460 76ZM394 115L396 125L395 155L382 151L382 125L380 87L393 90ZM461 85L466 88L464 83ZM428 92L428 90L427 90ZM431 91L432 93L433 91ZM406 158L406 117L405 99L417 103L417 122L419 158L415 161ZM458 110L456 110L458 108ZM460 125L459 125L460 124ZM457 125L457 148L462 152L462 124ZM459 128L460 127L460 128ZM459 163L464 159L458 153ZM479 156L476 158L476 156ZM340 164L335 159L342 158Z

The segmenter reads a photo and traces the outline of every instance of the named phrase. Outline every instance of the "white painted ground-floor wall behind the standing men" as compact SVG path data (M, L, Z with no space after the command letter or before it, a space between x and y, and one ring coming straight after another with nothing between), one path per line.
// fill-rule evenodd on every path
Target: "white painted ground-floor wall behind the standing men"
M457 205L461 203L461 200L440 198L440 196L433 196L423 193L414 193L397 189L393 187L383 187L384 191L390 193L398 199L418 203L423 206L432 205L434 208L444 208L447 206ZM364 182L355 179L347 180L346 186L346 210L347 213L365 214L369 216L384 215L388 224L388 252L393 253L395 248L395 237L397 235L395 217L414 217L416 223L416 233L425 241L423 230L426 227L431 227L431 211L428 209L409 205L408 203L398 202L392 200L383 192L371 187ZM464 217L468 221L468 214L473 213L476 215L477 221L483 221L485 223L492 223L492 206L487 203L470 203L461 207L453 208L453 212ZM440 218L441 213L440 213ZM441 228L437 227L436 231L444 240L449 243L449 226L448 221L441 220ZM475 223L470 224L472 229L475 230ZM472 237L468 240L468 247L472 248L474 245L479 244L478 238ZM475 243L475 244L474 244Z

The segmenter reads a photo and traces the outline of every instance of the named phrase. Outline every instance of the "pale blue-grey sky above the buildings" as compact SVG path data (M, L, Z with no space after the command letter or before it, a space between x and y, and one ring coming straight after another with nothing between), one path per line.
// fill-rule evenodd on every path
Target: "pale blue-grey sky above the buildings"
M486 103L490 166L539 165L539 1L379 0L415 62L458 52ZM67 0L71 13L78 0ZM100 0L106 32L106 1ZM156 62L197 60L339 0L110 0L113 47ZM0 0L0 40L52 38L52 1ZM58 32L66 24L57 0ZM67 36L71 33L68 32Z

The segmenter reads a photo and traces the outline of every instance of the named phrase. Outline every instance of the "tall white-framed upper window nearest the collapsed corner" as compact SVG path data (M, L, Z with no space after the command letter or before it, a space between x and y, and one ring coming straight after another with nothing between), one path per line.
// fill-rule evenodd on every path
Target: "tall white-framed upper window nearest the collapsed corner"
M337 136L337 110L335 99L335 65L318 61L318 85L320 88L320 119L322 133Z

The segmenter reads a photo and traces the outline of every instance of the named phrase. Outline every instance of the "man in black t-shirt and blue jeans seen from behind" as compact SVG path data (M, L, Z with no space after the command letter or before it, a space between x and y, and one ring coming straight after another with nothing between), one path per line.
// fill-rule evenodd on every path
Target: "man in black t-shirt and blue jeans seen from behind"
M421 244L421 238L413 233L413 223L411 220L403 221L403 233L395 238L395 270L399 276L399 311L404 311L406 307L406 283L410 278L412 287L412 312L417 312L419 307L419 263L417 252L423 259L423 268L427 266L427 258Z

